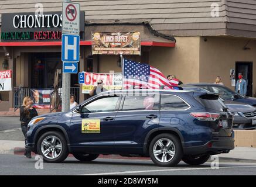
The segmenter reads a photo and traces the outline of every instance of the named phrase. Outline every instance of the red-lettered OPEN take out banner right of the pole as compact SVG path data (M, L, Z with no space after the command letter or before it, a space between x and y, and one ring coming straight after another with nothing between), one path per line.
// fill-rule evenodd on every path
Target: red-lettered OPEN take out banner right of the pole
M103 80L103 87L108 90L122 88L122 73L93 73L84 72L84 84L82 93L90 93L90 91L97 86L97 81Z

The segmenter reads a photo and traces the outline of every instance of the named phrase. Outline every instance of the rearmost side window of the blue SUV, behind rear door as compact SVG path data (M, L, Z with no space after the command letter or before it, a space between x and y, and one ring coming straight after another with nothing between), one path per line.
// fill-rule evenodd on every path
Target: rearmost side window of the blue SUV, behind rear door
M189 106L178 96L161 95L161 110L185 110Z

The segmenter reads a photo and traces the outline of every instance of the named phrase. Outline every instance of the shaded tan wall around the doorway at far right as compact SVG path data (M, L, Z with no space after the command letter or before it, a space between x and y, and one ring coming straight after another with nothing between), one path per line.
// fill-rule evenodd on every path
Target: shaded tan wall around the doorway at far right
M230 70L235 70L236 61L253 62L252 82L256 82L256 41L235 37L200 37L200 82L214 82L216 76L231 89ZM245 44L250 50L243 50ZM253 86L252 95L256 92Z

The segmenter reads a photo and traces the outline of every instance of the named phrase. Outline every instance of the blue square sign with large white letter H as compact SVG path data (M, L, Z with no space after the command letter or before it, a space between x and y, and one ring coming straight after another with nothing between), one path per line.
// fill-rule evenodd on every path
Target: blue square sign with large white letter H
M80 36L62 34L62 61L78 62Z

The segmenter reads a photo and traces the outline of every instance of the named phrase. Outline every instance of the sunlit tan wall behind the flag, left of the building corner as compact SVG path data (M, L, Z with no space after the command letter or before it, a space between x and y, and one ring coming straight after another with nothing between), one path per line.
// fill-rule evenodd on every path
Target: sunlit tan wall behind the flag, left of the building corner
M153 47L149 64L183 83L199 82L199 37L175 37L176 47Z

